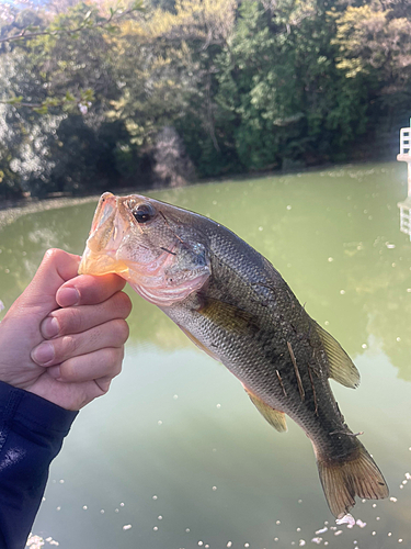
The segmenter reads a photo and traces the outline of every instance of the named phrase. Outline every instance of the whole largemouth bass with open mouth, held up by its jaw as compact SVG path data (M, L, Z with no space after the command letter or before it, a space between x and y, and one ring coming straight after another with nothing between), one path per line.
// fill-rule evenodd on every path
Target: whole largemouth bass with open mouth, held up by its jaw
M331 513L388 486L346 425L330 379L355 389L359 373L309 316L273 265L219 223L139 194L105 192L79 273L123 277L201 349L222 362L277 432L286 416L310 439Z

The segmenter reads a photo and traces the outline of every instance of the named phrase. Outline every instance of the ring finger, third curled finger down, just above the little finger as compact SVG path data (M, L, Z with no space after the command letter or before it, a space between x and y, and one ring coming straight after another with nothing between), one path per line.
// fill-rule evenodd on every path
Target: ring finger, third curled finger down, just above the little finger
M41 343L32 350L32 360L38 366L54 366L72 357L94 352L105 347L121 347L128 337L128 325L115 318L81 334L71 334Z

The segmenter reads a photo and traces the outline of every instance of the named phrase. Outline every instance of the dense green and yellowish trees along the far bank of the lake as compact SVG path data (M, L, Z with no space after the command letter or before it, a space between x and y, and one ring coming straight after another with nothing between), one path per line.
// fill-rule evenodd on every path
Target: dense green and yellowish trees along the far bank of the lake
M26 0L0 18L0 198L381 157L408 125L409 0Z

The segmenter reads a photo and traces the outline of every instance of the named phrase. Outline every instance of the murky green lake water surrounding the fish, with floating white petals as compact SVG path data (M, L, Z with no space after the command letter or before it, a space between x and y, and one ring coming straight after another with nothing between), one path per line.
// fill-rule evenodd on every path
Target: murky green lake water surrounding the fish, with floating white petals
M411 244L397 208L406 179L392 163L150 193L244 238L340 340L362 383L332 388L391 501L359 501L359 525L336 526L302 430L270 427L221 365L133 293L123 373L73 424L33 533L60 549L411 547ZM5 309L48 247L82 253L94 208L0 228Z

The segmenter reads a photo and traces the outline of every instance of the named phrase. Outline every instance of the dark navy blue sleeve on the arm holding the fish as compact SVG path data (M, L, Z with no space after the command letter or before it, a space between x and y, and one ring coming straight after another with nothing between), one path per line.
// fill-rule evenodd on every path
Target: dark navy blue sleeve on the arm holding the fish
M25 547L49 464L77 414L0 381L0 549Z

